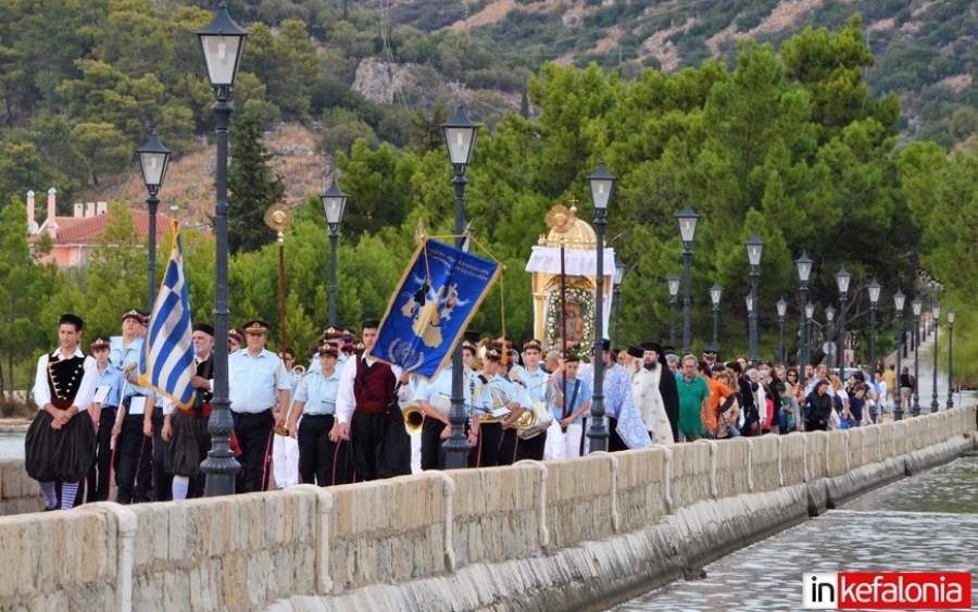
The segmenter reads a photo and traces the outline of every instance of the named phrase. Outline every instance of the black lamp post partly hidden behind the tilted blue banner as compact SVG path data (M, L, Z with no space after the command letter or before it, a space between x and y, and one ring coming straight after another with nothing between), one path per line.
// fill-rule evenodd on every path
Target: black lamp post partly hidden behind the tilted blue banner
M452 185L455 186L455 248L465 246L465 168L472 161L472 152L475 149L476 137L479 135L479 126L472 123L460 105L454 116L448 123L441 125L444 136L444 145L448 147L449 161L455 173ZM452 408L449 412L449 424L452 427L448 439L442 444L444 449L444 466L449 470L460 470L468 463L468 441L465 439L465 396L462 390L462 342L455 345L452 353Z

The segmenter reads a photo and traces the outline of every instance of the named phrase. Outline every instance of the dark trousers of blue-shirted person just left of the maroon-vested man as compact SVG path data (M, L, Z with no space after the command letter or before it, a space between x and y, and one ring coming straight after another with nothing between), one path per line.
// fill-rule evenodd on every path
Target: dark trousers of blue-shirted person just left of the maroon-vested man
M349 483L349 445L329 439L333 414L303 414L299 423L299 479L308 485Z

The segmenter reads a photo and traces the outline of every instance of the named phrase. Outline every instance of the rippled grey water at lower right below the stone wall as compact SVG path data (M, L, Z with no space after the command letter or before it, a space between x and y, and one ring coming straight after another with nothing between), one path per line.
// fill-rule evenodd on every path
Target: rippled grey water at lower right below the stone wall
M877 489L613 610L800 610L803 572L965 571L978 577L978 458ZM978 583L973 579L973 600Z

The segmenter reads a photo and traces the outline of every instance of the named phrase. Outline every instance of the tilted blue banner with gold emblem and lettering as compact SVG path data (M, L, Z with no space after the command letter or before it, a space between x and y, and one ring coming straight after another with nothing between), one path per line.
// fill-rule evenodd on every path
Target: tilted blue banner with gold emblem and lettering
M451 361L499 264L424 239L387 307L371 357L430 379Z

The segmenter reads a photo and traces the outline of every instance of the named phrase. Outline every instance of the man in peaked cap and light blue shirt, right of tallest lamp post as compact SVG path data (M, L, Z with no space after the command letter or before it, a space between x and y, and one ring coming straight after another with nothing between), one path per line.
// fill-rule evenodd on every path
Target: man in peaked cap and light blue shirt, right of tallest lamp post
M277 424L272 407L276 392L280 405L289 404L292 385L281 359L265 349L268 324L249 321L243 330L248 348L227 359L228 395L235 437L241 449L241 488L243 492L252 492L268 486L272 427ZM285 419L285 413L278 419Z

